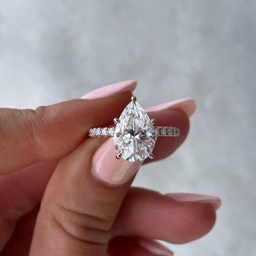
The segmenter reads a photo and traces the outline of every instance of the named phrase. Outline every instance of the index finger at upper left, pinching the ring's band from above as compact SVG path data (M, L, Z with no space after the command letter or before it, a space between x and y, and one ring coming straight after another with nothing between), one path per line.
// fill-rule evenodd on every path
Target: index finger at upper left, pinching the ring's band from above
M62 157L93 126L106 126L130 100L136 81L101 88L102 98L74 99L36 110L0 110L0 174ZM115 96L111 96L115 95Z

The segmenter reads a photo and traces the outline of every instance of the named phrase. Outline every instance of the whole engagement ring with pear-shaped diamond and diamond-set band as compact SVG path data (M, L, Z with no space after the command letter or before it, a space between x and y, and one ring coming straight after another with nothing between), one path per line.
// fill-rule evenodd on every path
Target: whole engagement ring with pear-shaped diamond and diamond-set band
M179 128L153 126L146 111L138 104L136 97L123 110L119 118L114 118L116 127L98 127L89 130L90 137L114 137L117 159L136 162L146 158L153 159L155 136L179 136Z

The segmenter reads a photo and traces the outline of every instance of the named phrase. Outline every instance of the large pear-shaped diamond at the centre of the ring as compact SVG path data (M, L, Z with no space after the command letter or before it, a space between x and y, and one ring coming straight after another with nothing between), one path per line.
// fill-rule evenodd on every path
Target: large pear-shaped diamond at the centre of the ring
M120 115L114 132L114 145L122 158L131 162L143 161L155 146L154 127L145 110L131 101Z

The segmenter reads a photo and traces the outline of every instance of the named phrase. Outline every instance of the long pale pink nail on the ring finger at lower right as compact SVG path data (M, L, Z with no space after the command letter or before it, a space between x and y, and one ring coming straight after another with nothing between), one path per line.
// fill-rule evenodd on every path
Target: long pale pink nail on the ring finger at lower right
M192 194L192 193L168 193L165 194L177 201L182 202L198 202L198 203L210 203L214 209L217 210L221 206L221 199L212 195Z

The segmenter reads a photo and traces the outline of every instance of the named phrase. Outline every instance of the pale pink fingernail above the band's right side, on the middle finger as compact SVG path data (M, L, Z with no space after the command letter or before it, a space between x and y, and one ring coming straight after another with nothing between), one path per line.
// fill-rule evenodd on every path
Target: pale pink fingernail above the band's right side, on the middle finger
M150 107L147 111L159 111L166 109L181 109L188 117L195 112L195 102L191 98L178 99L177 101L167 102L161 105Z

